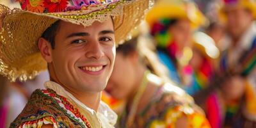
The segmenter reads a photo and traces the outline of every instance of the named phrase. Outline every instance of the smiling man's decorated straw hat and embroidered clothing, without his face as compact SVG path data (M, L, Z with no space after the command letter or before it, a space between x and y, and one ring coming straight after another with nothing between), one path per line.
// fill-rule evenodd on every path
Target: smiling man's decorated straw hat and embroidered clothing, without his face
M91 26L112 17L115 41L119 44L140 24L149 0L19 0L22 10L0 4L0 75L10 81L33 79L47 69L38 49L38 39L47 28L62 20ZM106 78L107 79L107 78ZM54 82L47 90L36 90L11 127L113 127L116 115L100 103L98 112L84 106Z

